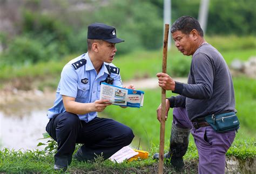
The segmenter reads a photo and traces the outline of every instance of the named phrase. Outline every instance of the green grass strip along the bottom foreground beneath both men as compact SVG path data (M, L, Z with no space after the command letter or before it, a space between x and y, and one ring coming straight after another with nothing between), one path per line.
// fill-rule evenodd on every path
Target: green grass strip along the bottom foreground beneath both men
M254 158L256 153L254 140L237 141L228 150L227 157L235 156L240 161L248 158ZM165 147L168 149L168 147ZM147 159L113 163L109 160L103 161L102 157L98 157L95 162L78 162L73 159L69 166L68 172L83 173L156 173L158 171L158 162L152 159L152 155L158 152L158 147L153 147L149 151L150 156ZM51 173L53 171L53 154L48 154L40 150L10 150L3 149L0 151L0 172L6 173ZM185 169L184 173L197 173L198 154L194 143L190 143L188 151L184 156ZM176 171L169 165L169 160L165 160L165 173L176 173ZM61 173L61 172L59 172Z

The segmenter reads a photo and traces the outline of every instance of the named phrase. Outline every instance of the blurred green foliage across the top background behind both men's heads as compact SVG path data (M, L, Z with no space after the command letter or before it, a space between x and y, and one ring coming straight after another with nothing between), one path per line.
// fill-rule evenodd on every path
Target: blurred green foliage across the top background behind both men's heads
M171 20L184 15L197 18L199 5L200 0L172 1ZM211 0L207 36L249 36L239 45L223 39L221 48L255 48L255 6L255 0ZM82 54L87 25L94 22L117 28L118 37L125 40L118 45L118 54L157 50L163 42L162 0L0 0L0 11L0 68ZM9 25L4 28L6 21Z

